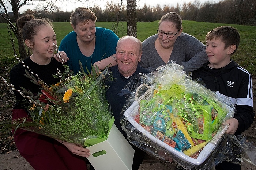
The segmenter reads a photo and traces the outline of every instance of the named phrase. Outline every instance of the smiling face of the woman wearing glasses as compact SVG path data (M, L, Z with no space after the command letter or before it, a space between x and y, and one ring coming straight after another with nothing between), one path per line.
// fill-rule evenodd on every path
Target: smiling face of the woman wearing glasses
M159 31L165 32L165 33L173 33L176 34L176 32L178 31L175 24L173 22L170 21L163 21L159 24ZM173 47L176 39L178 38L178 36L181 35L182 32L182 28L180 31L178 31L178 33L176 35L174 35L173 38L169 38L167 37L166 34L164 34L163 36L158 35L158 40L159 43L161 44L161 46L165 49L168 49L170 47Z

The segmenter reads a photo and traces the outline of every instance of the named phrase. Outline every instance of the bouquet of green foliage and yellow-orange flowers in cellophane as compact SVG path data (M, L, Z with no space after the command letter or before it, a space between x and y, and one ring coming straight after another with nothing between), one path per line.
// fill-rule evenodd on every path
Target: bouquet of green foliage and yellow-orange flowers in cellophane
M81 63L80 66L83 68ZM93 70L87 75L82 69L71 75L69 67L64 67L64 73L53 75L61 81L49 86L39 77L35 78L37 74L26 70L26 76L41 86L42 93L35 96L25 88L18 90L30 102L31 117L15 120L13 127L84 147L106 140L114 122L105 96L105 83L112 81L111 71L106 68L98 74Z

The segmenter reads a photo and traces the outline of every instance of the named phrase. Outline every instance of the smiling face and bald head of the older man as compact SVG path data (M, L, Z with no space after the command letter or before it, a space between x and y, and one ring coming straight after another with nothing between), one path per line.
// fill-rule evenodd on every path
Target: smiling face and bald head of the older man
M124 76L131 76L137 69L142 52L139 40L127 36L119 40L116 47L116 59L119 72Z

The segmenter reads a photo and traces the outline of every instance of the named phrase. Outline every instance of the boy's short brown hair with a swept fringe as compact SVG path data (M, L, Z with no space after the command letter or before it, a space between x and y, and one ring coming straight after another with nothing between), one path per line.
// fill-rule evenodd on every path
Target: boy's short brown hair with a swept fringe
M214 28L210 32L207 33L205 39L206 40L212 40L212 39L220 39L225 44L225 49L231 45L236 46L236 50L240 43L240 35L236 28L230 27L230 26L221 26ZM234 54L236 52L232 54Z

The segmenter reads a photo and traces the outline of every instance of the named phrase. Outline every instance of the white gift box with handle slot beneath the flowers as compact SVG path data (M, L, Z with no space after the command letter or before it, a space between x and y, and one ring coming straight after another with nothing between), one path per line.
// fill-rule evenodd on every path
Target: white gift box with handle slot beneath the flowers
M87 147L91 155L87 158L96 170L131 170L134 149L113 124L108 139ZM102 155L96 156L95 153Z

